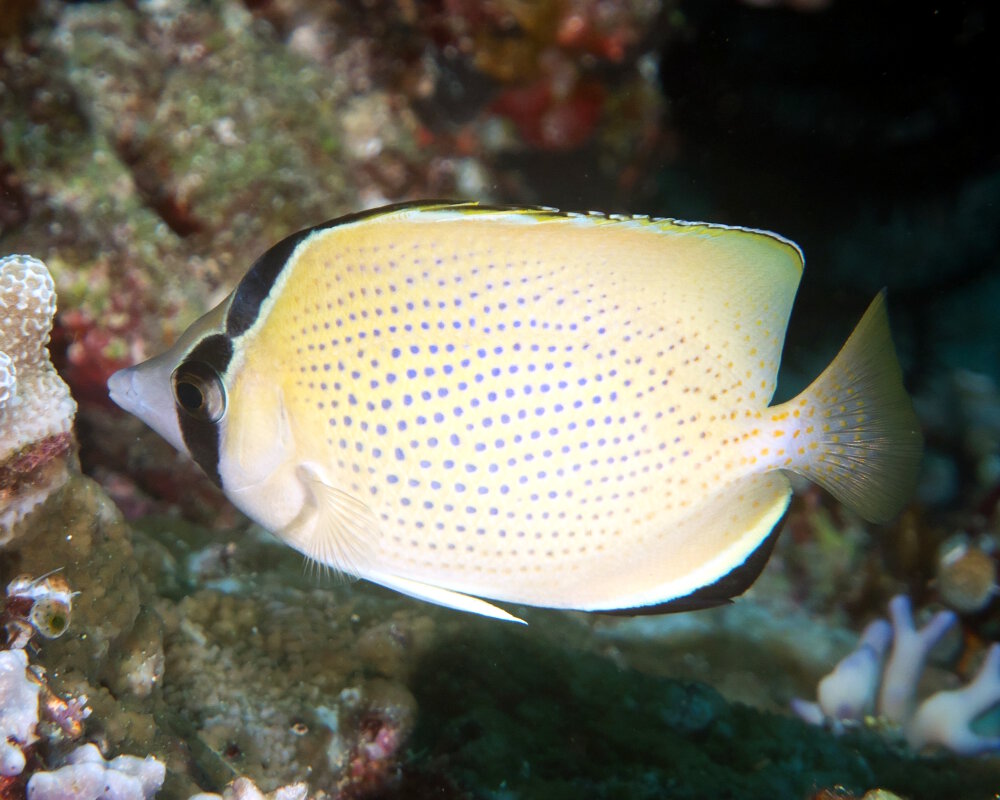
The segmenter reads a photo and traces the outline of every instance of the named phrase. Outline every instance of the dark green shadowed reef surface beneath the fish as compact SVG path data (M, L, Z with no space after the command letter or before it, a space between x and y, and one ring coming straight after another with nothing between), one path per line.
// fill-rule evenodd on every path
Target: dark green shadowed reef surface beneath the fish
M1000 782L987 761L918 758L867 731L837 738L537 634L468 626L438 642L412 681L412 770L474 796L546 800L773 800L838 785L931 800L989 797Z

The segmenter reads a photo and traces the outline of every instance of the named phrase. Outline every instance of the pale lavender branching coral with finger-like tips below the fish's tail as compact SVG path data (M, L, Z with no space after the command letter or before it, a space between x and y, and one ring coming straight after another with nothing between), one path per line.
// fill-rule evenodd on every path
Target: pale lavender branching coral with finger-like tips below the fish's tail
M918 705L917 685L927 656L956 616L938 612L918 629L909 598L899 595L889 602L889 617L891 624L879 619L868 625L857 649L820 681L817 702L792 702L795 713L814 725L829 724L835 732L874 715L897 726L914 750L941 747L959 755L1000 751L1000 737L980 735L971 727L1000 704L1000 644L990 647L967 686L937 692Z

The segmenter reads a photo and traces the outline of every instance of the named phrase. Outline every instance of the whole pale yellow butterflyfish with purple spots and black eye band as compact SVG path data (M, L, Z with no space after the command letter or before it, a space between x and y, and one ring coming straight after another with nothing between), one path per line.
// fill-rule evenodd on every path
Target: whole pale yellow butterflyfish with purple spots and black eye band
M323 564L513 619L742 592L785 471L870 520L921 453L884 297L769 406L802 272L764 231L477 204L297 233L112 399Z

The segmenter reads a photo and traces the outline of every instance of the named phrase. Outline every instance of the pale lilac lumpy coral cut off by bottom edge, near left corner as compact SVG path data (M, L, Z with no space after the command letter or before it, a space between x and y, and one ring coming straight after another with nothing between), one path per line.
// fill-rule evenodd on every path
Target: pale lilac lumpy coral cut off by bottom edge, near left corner
M78 747L66 765L36 772L28 780L28 800L152 800L166 768L155 758L117 756L105 761L93 744Z

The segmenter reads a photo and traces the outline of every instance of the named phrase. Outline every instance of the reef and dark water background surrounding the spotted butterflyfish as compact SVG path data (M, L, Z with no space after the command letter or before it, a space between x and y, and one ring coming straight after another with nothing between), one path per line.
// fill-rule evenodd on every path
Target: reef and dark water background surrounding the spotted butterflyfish
M0 272L0 798L1000 796L997 16L0 0L0 256L47 267ZM274 242L426 197L794 240L777 399L887 287L913 503L873 525L802 483L731 606L513 626L309 568L109 401ZM878 671L887 615L905 719L793 713L849 653ZM874 691L841 663L831 692Z

